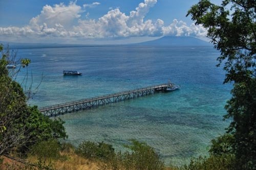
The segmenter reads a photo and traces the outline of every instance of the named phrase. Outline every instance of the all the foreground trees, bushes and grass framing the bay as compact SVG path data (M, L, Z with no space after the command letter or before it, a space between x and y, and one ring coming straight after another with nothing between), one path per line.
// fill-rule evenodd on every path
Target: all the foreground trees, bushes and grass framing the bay
M224 117L231 124L211 141L209 156L175 167L165 165L154 146L135 139L123 153L104 142L83 141L78 147L60 143L58 139L68 137L65 122L29 106L31 88L24 90L14 79L30 60L15 61L16 54L0 45L0 169L256 169L255 2L224 0L217 6L201 0L187 15L208 30L207 37L221 52L217 60L226 71L224 83L233 84ZM14 61L19 68L7 69Z

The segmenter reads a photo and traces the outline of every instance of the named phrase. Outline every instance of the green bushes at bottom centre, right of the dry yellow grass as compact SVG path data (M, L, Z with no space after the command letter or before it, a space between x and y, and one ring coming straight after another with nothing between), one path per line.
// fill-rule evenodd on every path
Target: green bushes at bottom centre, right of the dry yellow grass
M163 162L152 147L134 139L131 142L131 145L125 145L130 151L115 153L110 144L83 141L76 149L76 153L84 158L103 160L105 164L102 169L164 169Z

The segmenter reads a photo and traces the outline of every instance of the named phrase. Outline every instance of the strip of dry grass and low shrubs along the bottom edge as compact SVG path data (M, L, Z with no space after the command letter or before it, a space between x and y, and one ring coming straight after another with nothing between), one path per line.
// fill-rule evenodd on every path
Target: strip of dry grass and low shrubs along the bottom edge
M53 141L50 141L53 142ZM53 142L54 143L54 142ZM52 144L58 150L47 150L45 154L41 144L37 143L36 148L26 158L26 162L33 166L2 157L0 170L226 170L233 169L233 156L230 154L210 155L209 157L198 157L191 159L190 163L181 167L169 165L164 166L159 155L152 147L137 140L131 140L126 148L130 151L121 153L114 152L111 145L100 142L83 142L78 148L69 143L61 145ZM40 151L42 153L34 153ZM56 151L58 154L56 154ZM57 158L54 156L57 155Z

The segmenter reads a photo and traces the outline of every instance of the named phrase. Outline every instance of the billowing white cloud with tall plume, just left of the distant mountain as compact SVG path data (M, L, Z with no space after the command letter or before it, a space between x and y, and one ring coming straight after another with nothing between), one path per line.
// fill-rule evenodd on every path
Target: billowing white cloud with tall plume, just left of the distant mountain
M80 20L75 27L77 32L90 37L137 37L137 36L161 36L163 21L158 19L156 23L145 20L144 17L151 7L157 3L156 0L145 0L140 3L136 11L125 15L118 8L95 20Z

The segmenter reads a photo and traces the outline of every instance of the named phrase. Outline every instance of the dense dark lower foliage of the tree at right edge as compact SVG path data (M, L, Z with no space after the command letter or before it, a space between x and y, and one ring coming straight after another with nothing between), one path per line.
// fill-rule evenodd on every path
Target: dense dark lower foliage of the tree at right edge
M235 84L232 94L226 118L233 117L228 132L234 136L236 161L240 169L256 169L256 79Z

